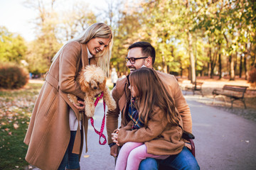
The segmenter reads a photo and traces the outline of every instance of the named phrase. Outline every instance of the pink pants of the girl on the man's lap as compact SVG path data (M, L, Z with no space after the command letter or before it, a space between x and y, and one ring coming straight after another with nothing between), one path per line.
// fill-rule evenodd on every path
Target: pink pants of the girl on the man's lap
M127 142L125 143L117 157L117 164L115 170L137 170L139 169L139 164L143 159L148 157L156 159L166 159L169 155L155 155L148 154L146 152L146 145L142 142Z

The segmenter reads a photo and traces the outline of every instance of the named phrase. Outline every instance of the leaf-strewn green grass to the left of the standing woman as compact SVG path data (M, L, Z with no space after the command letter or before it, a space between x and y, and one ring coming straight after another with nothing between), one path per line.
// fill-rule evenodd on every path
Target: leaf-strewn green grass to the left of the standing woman
M27 145L23 143L33 105L42 84L19 90L0 90L0 169L24 169Z

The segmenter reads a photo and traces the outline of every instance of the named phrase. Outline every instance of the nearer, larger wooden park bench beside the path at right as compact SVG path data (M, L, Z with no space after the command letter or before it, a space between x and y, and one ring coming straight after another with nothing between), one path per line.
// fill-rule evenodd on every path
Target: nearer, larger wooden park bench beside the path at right
M221 96L226 96L230 98L231 101L231 108L233 108L233 102L236 100L242 101L245 105L245 91L248 88L248 86L235 86L235 85L224 85L222 90L213 90L213 104L215 101L215 96L221 95ZM223 97L224 98L224 97ZM224 98L225 105L226 105L226 100Z

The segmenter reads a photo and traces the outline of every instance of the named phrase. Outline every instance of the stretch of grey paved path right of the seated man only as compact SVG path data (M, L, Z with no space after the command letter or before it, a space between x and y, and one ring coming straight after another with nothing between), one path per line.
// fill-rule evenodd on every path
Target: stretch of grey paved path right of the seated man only
M256 122L198 103L198 96L185 97L201 169L256 169Z

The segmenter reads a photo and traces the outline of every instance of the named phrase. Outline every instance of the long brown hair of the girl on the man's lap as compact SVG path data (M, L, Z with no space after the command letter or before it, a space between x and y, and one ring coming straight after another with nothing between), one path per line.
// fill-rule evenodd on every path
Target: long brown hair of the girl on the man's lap
M137 92L136 108L139 119L146 126L152 118L155 107L164 111L165 117L171 125L178 125L179 116L174 106L174 99L166 90L154 69L142 67L129 75L131 86Z

